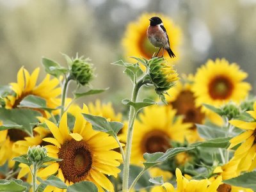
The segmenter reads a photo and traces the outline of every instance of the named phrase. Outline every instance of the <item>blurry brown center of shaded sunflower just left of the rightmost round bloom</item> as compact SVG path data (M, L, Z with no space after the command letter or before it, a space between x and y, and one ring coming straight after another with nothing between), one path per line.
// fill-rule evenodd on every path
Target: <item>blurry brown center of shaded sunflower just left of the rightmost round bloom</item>
M195 97L191 91L180 92L177 99L170 104L177 109L177 115L184 116L184 122L202 124L205 115L201 112L201 108L196 108Z

